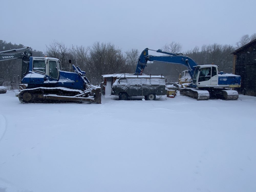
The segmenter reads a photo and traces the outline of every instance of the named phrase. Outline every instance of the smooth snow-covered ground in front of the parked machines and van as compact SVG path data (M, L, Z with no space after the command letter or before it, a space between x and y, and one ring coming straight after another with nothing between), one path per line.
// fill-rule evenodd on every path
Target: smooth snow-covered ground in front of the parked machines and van
M256 191L256 97L21 104L0 94L0 191Z

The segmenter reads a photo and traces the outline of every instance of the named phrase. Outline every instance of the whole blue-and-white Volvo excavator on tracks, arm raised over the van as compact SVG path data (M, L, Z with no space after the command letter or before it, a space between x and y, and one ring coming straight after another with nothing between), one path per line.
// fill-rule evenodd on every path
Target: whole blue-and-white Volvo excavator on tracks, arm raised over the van
M148 55L148 50L167 54L167 56ZM197 100L208 100L209 98L238 99L238 92L230 90L230 88L241 87L241 77L231 73L219 73L217 65L197 65L193 59L183 54L146 48L138 59L135 74L143 73L147 61L161 61L186 66L192 81L186 88L180 89L180 94L182 95Z

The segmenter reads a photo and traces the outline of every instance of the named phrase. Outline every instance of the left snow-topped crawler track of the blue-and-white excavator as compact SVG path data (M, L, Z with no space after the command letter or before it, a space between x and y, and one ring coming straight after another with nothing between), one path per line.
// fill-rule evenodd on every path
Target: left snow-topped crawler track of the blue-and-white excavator
M199 90L196 88L184 88L180 89L180 94L192 97L197 100L208 100L210 98L209 91Z

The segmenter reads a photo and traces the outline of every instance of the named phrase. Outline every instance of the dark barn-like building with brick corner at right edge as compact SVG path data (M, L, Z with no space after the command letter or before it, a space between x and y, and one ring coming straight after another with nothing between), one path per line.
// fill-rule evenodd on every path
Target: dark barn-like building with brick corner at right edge
M233 73L241 76L239 94L256 96L256 39L233 51Z

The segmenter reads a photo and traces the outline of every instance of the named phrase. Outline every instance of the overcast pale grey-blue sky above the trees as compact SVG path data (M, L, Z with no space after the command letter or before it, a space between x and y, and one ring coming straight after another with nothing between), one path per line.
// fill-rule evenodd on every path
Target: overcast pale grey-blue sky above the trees
M13 1L1 2L0 39L46 50L53 40L91 46L111 42L123 51L179 42L235 45L256 33L256 1Z

